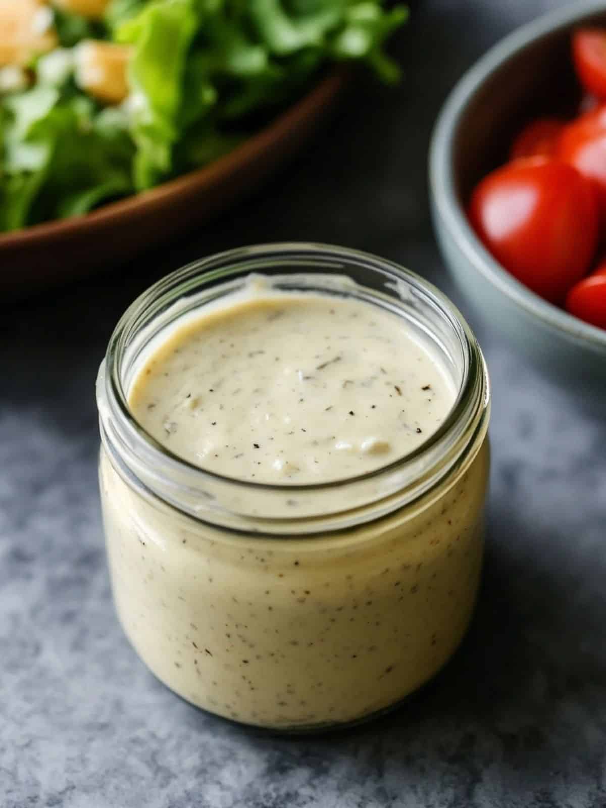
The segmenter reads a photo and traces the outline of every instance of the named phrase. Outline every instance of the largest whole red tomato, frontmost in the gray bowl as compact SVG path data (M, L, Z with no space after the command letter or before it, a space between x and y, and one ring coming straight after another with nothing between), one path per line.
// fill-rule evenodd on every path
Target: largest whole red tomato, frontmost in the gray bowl
M554 303L585 275L595 254L595 191L556 160L516 160L493 171L475 187L469 219L503 267Z

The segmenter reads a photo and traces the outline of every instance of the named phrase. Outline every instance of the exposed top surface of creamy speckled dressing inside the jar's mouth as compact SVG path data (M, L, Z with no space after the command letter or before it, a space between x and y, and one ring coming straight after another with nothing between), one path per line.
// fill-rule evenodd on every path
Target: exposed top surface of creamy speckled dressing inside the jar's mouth
M329 482L417 448L455 391L396 314L319 294L225 305L175 330L130 390L137 420L194 465Z

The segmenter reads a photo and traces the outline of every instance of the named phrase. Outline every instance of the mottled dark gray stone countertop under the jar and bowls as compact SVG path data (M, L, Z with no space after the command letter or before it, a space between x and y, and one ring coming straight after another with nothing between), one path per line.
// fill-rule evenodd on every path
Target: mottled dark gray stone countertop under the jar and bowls
M486 574L457 658L389 718L276 739L158 684L116 622L95 469L93 385L112 326L186 260L314 239L372 250L451 291L427 213L431 124L475 57L554 5L425 0L397 43L402 88L360 86L253 204L126 271L5 302L2 808L606 806L606 401L541 379L455 292L494 386Z

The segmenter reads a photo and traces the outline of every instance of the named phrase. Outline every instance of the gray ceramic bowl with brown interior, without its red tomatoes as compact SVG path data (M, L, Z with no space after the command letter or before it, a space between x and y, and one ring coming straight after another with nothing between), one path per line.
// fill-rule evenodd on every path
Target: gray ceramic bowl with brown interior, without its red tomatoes
M559 381L606 389L606 331L581 322L520 284L476 238L464 205L475 183L507 159L512 137L537 115L574 112L579 88L570 32L606 26L606 2L576 2L507 36L452 90L430 151L431 206L452 276L520 353Z

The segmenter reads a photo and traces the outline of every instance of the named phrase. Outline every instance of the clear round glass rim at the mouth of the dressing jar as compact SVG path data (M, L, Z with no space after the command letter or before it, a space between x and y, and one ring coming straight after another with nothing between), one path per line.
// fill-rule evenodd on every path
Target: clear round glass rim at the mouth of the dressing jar
M407 286L415 288L448 320L448 325L456 332L461 342L465 357L463 377L457 398L444 422L430 436L427 436L419 447L377 469L351 477L337 478L327 482L275 484L231 477L194 465L183 457L175 455L170 448L160 444L137 421L128 406L128 392L124 389L120 364L124 358L128 336L141 316L145 312L149 312L149 306L156 305L160 308L164 305L166 309L166 299L170 294L173 294L175 298L178 295L183 297L196 285L196 280L198 282L196 288L200 288L200 279L204 279L204 286L208 286L217 281L229 280L230 276L236 274L241 276L253 272L255 267L267 267L267 262L276 263L276 266L279 265L286 274L292 272L292 267L301 267L302 263L307 265L308 272L309 265L314 264L314 267L321 265L333 271L340 268L341 274L344 276L347 276L347 266L351 268L353 265L362 270L380 271L386 278L392 278L396 284L403 282ZM256 271L263 271L263 269L257 268ZM305 272L305 269L301 269L301 272ZM365 288L364 284L360 284L360 288ZM99 368L97 398L102 436L103 413L107 410L106 405L108 404L114 418L120 419L123 438L127 441L138 442L140 448L145 450L147 461L151 465L158 463L158 465L164 465L166 469L171 469L174 473L186 474L190 487L198 488L199 484L204 487L211 480L222 485L237 486L238 490L277 492L292 496L293 494L309 495L326 490L334 491L344 486L349 488L390 473L398 473L400 478L406 478L410 482L410 478L414 478L414 473L406 474L406 469L412 471L415 466L427 465L431 455L437 455L433 458L434 463L440 461L444 453L452 449L453 440L449 439L457 437L454 433L457 432L457 427L461 427L461 422L469 420L469 414L472 411L477 413L478 410L482 412L487 410L490 401L490 384L482 351L472 330L457 307L434 284L389 259L382 259L361 250L313 242L280 242L239 247L196 260L164 276L142 292L128 306L109 340L105 359Z

